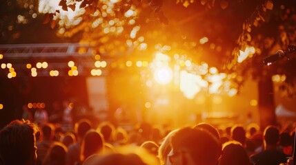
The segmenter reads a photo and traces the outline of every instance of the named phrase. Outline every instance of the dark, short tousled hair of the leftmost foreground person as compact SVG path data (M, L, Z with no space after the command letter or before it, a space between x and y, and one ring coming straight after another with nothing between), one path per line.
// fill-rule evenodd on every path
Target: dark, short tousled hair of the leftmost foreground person
M37 125L29 120L13 120L0 131L0 155L3 164L34 164Z

